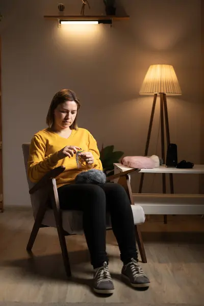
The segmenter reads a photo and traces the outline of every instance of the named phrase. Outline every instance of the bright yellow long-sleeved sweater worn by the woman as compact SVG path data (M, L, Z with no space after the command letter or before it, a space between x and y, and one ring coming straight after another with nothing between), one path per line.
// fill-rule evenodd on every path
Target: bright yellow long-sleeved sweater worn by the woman
M58 161L57 153L66 145L74 145L90 151L94 157L91 168L103 170L97 143L89 131L79 128L77 131L72 130L68 138L63 138L49 129L44 129L36 133L31 140L28 161L29 179L37 183L51 169L65 166L64 172L56 178L57 187L73 183L75 176L81 171L86 171L87 167L83 165L78 169L75 154L71 158L66 157Z

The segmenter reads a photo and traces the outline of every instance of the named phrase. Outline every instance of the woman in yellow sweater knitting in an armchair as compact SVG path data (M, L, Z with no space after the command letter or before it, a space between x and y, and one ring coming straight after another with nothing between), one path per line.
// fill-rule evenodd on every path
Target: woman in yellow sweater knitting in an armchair
M121 274L133 287L148 287L149 280L138 264L135 227L129 198L119 184L74 184L81 171L103 170L93 136L78 128L80 101L69 89L60 90L50 104L47 129L36 133L31 141L28 162L29 178L38 182L51 169L65 166L56 181L62 210L83 211L83 226L94 268L93 289L97 293L113 293L114 285L106 253L106 211L111 214L112 228L123 262ZM78 168L76 153L84 163Z

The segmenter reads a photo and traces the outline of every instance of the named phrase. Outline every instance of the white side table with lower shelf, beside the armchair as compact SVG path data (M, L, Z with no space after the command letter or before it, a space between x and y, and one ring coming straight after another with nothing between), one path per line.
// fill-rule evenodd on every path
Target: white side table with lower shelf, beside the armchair
M114 164L115 173L132 168L122 164ZM135 173L135 172L133 172ZM204 165L194 165L192 169L177 169L160 166L153 169L141 169L136 173L173 173L204 174ZM137 174L135 174L137 175ZM149 215L203 215L203 194L150 194L134 193L135 204L141 205L145 214Z

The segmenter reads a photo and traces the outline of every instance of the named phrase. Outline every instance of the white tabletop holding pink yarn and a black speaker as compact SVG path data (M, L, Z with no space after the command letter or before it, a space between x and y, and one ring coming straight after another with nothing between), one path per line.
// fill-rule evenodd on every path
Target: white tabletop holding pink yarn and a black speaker
M126 166L123 166L122 164L114 164L114 166L116 168L118 168L120 171L127 171L127 170L131 170L133 168L129 168ZM170 167L166 167L165 165L162 165L158 168L152 168L152 169L141 169L139 171L140 173L183 173L183 174L187 174L187 173L194 173L194 174L204 174L204 165L194 165L194 167L192 169L178 169L178 168L170 168Z

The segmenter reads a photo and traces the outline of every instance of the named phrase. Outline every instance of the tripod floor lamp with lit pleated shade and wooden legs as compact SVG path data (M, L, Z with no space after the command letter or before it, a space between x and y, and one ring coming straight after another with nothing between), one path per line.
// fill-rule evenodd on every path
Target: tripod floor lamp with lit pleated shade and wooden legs
M151 65L145 75L142 87L139 92L141 95L154 95L154 100L151 109L149 129L147 133L146 147L144 156L148 155L149 141L151 136L152 123L155 114L155 107L158 95L160 96L160 123L161 123L161 157L165 164L165 138L164 127L166 127L166 142L167 146L170 143L169 120L167 110L166 95L181 95L182 91L177 80L173 66L171 65ZM144 173L141 173L139 193L142 192ZM173 175L169 173L170 193L173 190ZM162 190L166 193L166 175L162 173ZM164 223L167 223L167 216L164 216Z

